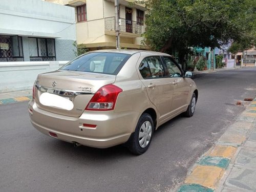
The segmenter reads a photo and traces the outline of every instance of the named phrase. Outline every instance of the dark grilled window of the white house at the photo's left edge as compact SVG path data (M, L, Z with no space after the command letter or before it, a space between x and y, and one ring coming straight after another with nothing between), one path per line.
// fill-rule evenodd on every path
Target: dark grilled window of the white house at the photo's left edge
M0 35L0 61L24 61L22 37Z

